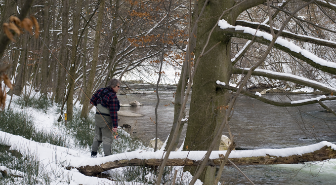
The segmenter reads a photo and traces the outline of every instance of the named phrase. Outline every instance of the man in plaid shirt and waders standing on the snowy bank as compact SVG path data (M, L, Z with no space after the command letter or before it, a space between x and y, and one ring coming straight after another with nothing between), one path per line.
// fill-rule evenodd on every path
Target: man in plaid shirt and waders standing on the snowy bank
M117 93L120 89L120 81L112 78L108 86L98 89L92 96L90 103L96 106L94 121L96 131L92 144L91 157L96 157L98 147L103 143L105 156L111 155L112 131L117 132L118 114L120 104Z

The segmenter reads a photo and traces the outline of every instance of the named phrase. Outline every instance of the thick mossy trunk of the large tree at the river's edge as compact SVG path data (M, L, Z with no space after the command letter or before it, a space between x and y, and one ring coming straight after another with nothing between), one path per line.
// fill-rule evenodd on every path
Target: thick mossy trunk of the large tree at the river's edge
M203 7L205 0L199 0L199 7ZM234 4L234 0L216 0L209 1L204 10L202 20L197 27L196 57L200 57L200 53L207 43L210 30L216 24L217 15ZM201 8L199 8L199 12ZM224 15L223 19L229 24L234 24L230 14ZM212 142L215 131L218 129L225 115L225 106L227 106L230 96L228 91L216 88L216 81L220 80L228 84L231 76L231 57L230 37L212 33L206 50L221 42L208 52L205 56L201 56L201 60L196 69L193 79L193 91L190 102L190 112L188 120L188 128L185 138L183 150L208 150L209 144ZM219 148L219 140L217 141ZM187 169L193 175L196 168ZM214 181L215 168L207 167L200 180L205 185Z

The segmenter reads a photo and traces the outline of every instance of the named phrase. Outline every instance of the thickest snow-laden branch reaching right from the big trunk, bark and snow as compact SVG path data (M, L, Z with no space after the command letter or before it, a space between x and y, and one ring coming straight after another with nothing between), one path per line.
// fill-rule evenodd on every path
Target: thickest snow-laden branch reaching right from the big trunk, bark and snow
M255 41L268 45L272 40L272 35L257 31L255 29L243 26L232 26L228 24L225 20L220 20L218 26L224 30L225 35L231 37L239 37L252 40L252 37L255 35ZM319 58L318 56L310 53L307 50L301 49L299 46L295 45L292 42L289 42L282 38L277 38L275 41L274 47L285 51L292 56L301 59L308 63L309 65L330 73L336 74L336 63L328 62L324 59Z

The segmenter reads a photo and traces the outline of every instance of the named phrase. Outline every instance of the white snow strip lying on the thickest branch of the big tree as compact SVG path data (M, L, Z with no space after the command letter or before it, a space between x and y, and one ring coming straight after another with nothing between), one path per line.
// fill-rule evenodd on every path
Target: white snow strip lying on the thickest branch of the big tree
M218 26L221 29L235 28L236 31L244 31L244 33L255 35L256 37L264 37L265 39L270 40L270 41L273 39L272 35L270 35L268 33L257 31L255 29L252 29L252 28L249 28L249 27L232 26L232 25L228 24L227 21L225 21L225 20L220 20L218 22ZM336 63L328 62L324 59L321 59L321 58L317 57L316 55L310 53L309 51L307 51L305 49L301 49L299 46L295 45L292 42L289 42L288 40L285 40L283 38L277 38L275 43L280 44L284 47L287 47L288 49L290 49L293 52L301 53L304 57L312 60L316 64L336 69Z

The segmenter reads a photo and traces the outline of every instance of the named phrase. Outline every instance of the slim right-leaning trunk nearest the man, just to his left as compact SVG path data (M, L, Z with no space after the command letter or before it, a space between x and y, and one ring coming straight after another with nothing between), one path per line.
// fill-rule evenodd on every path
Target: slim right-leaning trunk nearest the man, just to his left
M93 93L92 92L93 91L93 81L94 81L94 76L96 74L96 69L97 69L99 42L100 42L100 31L101 31L101 26L102 26L102 22L103 22L104 6L105 6L105 0L101 0L100 1L99 12L98 12L96 35L95 35L94 45L93 45L93 56L92 56L91 70L90 70L90 74L88 76L87 86L86 86L86 94L89 96L89 98L92 96L92 93ZM89 100L85 99L84 104L83 104L81 117L87 117L87 113L89 111L89 105L90 105Z

